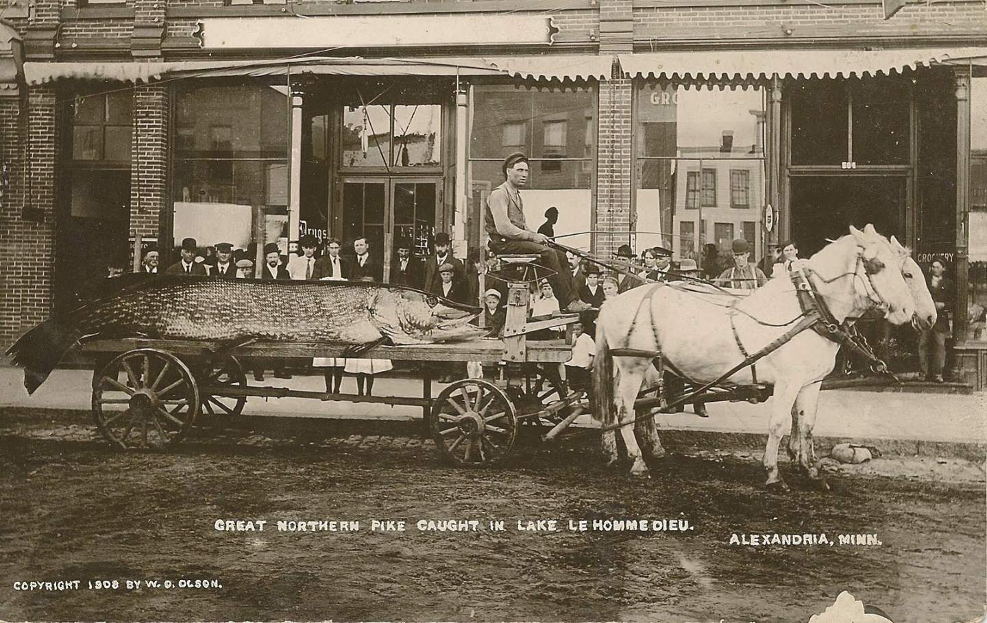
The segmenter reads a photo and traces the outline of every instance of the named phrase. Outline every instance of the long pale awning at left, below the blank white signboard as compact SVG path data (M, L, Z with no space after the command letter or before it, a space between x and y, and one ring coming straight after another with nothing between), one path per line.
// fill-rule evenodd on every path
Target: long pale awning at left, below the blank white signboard
M360 58L302 57L270 60L176 62L77 62L24 64L25 81L112 80L133 84L162 78L284 76L312 73L340 76L519 76L534 80L601 79L610 76L610 56L507 56Z

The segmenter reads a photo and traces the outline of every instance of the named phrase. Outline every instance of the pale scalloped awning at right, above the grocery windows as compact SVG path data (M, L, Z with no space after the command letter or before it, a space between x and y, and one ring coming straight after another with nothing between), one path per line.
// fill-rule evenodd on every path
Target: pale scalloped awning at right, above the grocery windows
M849 78L889 74L955 58L985 54L984 47L859 49L758 49L621 54L631 77L692 80L765 78Z

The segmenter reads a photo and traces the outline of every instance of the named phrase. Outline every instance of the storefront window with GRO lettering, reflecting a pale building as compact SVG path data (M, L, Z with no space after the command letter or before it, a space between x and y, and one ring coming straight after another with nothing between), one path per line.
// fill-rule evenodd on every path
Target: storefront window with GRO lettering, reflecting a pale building
M764 92L642 84L635 120L635 250L660 245L698 261L734 238L763 241Z

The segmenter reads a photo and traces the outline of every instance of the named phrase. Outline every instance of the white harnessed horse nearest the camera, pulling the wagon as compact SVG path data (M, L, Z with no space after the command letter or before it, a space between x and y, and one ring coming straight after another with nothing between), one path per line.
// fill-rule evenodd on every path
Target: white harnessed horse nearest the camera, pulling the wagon
M837 322L878 308L893 324L914 321L932 326L935 305L918 266L897 241L889 242L872 225L864 232L831 242L805 262L806 274ZM783 336L801 319L795 286L786 276L770 280L748 297L724 306L716 297L662 284L635 288L606 302L596 322L596 357L593 368L594 417L605 427L630 424L642 381L651 367L645 357L613 356L610 350L632 348L660 352L685 377L706 383ZM917 302L916 299L919 299ZM916 316L916 311L920 315ZM820 480L815 466L812 429L822 379L835 365L839 345L811 329L797 333L783 346L756 363L757 381L774 385L764 467L768 485L786 487L778 472L778 446L789 429L795 433L790 451L801 469ZM750 367L728 381L754 382ZM616 392L614 391L616 389ZM653 418L637 422L645 450L661 456ZM634 461L631 472L647 473L641 449L630 426L619 429ZM613 430L603 434L603 450L610 463L617 460Z

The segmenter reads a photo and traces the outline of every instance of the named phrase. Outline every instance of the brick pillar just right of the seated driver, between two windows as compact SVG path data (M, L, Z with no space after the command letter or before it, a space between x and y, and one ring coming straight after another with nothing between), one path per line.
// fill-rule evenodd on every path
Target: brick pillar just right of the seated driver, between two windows
M609 254L629 242L631 231L631 99L633 81L617 62L600 82L596 149L596 213L593 251Z

